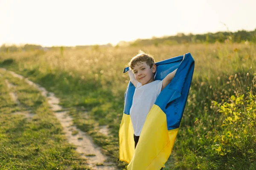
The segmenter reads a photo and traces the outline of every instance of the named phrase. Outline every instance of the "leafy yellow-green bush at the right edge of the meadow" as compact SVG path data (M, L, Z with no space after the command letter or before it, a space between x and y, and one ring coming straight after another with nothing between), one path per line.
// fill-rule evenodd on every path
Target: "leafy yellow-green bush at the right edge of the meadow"
M249 169L253 163L256 166L256 96L247 92L246 98L244 94L231 96L223 104L214 102L214 106L222 113L221 130L214 132L211 145L220 167Z

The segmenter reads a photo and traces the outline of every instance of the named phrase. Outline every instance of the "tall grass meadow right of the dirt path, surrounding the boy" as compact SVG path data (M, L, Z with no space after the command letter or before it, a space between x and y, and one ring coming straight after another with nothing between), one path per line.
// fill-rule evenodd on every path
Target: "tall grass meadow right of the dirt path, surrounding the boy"
M9 52L0 53L0 67L28 77L47 91L54 92L61 99L61 105L69 109L73 123L90 134L94 142L102 147L103 153L110 156L119 169L122 169L126 164L118 160L118 130L123 113L123 96L129 81L128 75L122 74L122 71L140 49L153 54L156 61L187 52L195 59L186 108L166 169L255 170L254 44L216 42L158 47L99 46L64 51ZM34 94L36 95L35 92ZM5 105L13 105L8 102L9 99L2 100L7 101ZM5 109L2 102L1 109ZM84 118L84 111L87 111L89 118ZM108 125L110 135L102 136L94 129L96 123ZM23 124L29 126L25 122ZM10 128L12 125L6 123L5 126ZM8 132L1 132L1 136L8 136ZM13 139L8 140L11 142ZM59 146L59 141L52 144ZM0 142L3 142L2 138ZM12 147L9 142L6 142L6 147ZM3 152L0 150L1 155ZM0 159L0 164L2 162L3 159ZM23 158L16 162L23 162Z

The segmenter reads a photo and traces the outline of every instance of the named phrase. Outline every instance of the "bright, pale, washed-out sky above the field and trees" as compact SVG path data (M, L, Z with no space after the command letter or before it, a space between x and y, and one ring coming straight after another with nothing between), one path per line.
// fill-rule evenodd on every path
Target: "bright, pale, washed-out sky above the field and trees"
M115 45L227 27L252 31L255 7L256 0L0 0L0 45Z

